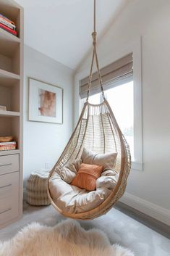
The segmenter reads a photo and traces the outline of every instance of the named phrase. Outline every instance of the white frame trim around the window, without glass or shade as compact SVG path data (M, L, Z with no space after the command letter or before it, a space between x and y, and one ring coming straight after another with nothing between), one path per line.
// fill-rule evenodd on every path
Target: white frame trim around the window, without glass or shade
M125 55L133 54L133 83L134 83L134 160L132 160L132 170L143 170L143 115L142 115L142 58L141 58L141 38L131 42L122 51L114 51L114 56L110 54L108 59L103 59L101 67L109 65ZM74 112L75 124L80 115L80 80L88 75L89 68L81 70L75 75Z

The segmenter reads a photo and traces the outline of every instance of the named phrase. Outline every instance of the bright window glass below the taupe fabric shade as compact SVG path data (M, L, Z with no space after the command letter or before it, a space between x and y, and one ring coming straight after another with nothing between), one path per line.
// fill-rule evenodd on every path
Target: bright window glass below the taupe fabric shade
M131 152L132 160L134 159L134 90L133 81L123 83L120 86L112 87L105 91L116 121L126 138ZM102 101L101 93L89 97L91 104L100 104ZM85 99L82 99L82 104ZM81 105L82 105L81 104Z

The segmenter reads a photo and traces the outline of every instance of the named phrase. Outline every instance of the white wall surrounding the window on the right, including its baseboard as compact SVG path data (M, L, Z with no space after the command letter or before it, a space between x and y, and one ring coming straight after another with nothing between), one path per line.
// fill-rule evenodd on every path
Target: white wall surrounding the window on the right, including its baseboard
M123 202L169 223L170 1L129 1L98 44L101 67L142 37L143 171L132 170ZM109 61L107 61L109 60ZM90 58L77 70L87 75ZM88 67L88 69L87 69ZM77 84L75 116L77 119Z

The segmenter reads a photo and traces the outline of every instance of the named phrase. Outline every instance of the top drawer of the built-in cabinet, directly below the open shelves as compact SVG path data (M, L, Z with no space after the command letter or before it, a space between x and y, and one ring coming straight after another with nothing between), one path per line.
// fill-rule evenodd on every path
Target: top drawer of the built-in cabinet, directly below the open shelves
M0 175L19 171L19 154L0 157Z

